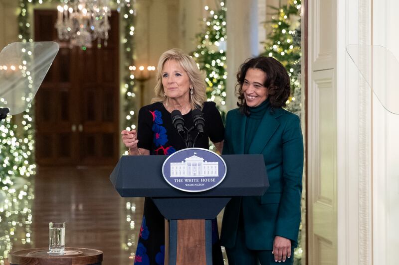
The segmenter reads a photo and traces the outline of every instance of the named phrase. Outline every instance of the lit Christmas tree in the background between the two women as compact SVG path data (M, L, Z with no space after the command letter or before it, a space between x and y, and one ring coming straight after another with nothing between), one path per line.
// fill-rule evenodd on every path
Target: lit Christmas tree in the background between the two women
M206 73L206 95L208 101L214 101L221 112L226 113L225 85L226 71L226 10L225 1L219 2L217 10L209 10L209 15L203 18L204 31L197 34L197 49L193 52L201 71Z

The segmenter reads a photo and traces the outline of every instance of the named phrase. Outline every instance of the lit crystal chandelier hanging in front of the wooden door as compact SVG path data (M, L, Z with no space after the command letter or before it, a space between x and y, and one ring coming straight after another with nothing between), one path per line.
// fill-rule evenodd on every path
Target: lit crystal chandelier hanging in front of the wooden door
M55 28L60 40L69 40L71 47L91 48L92 41L101 40L107 46L108 31L111 29L108 17L111 16L111 0L74 0L58 5ZM121 5L121 1L118 1ZM119 10L120 8L118 8Z

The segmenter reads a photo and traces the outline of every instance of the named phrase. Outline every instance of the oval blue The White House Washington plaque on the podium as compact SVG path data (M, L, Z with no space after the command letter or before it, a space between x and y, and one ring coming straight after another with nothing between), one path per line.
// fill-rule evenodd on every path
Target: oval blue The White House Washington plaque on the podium
M186 148L170 155L162 166L165 180L174 188L200 192L216 187L226 176L226 163L203 148Z

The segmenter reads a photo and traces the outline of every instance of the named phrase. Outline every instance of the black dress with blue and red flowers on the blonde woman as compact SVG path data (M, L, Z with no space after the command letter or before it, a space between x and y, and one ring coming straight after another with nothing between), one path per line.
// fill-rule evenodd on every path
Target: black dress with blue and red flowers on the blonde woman
M198 139L195 147L208 149L209 139L221 142L224 138L224 127L220 113L214 102L204 102L202 108L205 119L204 135ZM191 111L183 115L185 126L194 125ZM195 139L197 130L192 132ZM172 124L171 113L161 102L144 106L139 111L137 128L138 147L150 150L151 155L171 155L186 148L185 143ZM143 222L140 228L139 241L135 256L135 265L163 265L165 257L164 217L150 198L144 202ZM212 254L213 264L222 265L219 236L216 219L212 220Z

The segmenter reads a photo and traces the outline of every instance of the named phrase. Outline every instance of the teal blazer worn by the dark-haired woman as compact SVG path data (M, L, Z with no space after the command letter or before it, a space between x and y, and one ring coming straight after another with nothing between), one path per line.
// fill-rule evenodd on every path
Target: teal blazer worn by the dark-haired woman
M252 143L244 143L246 119L238 108L227 113L223 154L243 154L244 144L250 144L249 154L264 157L270 187L263 196L234 197L227 203L221 245L234 247L241 209L249 249L272 250L275 236L290 239L292 247L296 247L303 171L299 117L282 108L267 109Z

